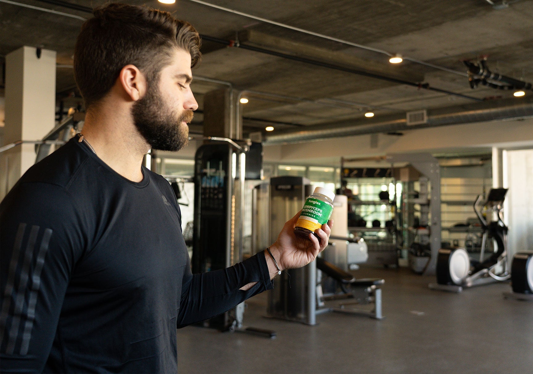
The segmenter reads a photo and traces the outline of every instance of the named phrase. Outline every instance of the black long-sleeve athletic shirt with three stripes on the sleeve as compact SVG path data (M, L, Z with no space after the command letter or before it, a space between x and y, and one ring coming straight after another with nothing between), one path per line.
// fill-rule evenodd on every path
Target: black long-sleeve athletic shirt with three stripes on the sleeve
M272 288L264 255L192 274L168 182L77 140L0 204L0 371L176 372L176 327Z

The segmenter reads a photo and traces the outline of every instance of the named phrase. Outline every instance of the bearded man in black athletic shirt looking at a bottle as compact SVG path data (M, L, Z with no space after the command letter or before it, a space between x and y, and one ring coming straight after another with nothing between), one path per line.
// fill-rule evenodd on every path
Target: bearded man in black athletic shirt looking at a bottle
M142 159L187 143L199 47L188 22L145 7L104 5L84 23L83 131L0 205L2 372L176 372L176 328L272 288L327 245L329 225L304 240L294 217L270 251L191 273L173 191Z

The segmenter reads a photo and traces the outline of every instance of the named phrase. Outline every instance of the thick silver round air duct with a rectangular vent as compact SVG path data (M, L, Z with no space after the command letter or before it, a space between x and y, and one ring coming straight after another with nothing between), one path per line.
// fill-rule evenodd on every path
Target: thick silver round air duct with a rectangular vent
M334 137L522 118L533 118L533 96L428 110L427 122L414 126L407 125L405 115L391 115L372 120L347 120L329 125L313 125L301 131L287 131L266 135L263 144L319 141Z

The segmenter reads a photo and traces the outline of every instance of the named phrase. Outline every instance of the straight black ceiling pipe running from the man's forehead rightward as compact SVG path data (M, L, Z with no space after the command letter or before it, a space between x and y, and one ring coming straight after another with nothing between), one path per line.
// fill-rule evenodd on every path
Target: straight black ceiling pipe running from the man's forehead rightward
M308 59L308 58L304 58L304 57L300 57L300 56L295 56L295 55L288 54L288 53L281 53L281 52L276 52L276 51L272 51L272 50L267 50L266 48L260 48L260 47L255 47L255 46L251 46L251 45L240 44L240 43L236 42L235 40L225 40L225 39L215 38L215 37L207 36L207 35L200 35L200 37L203 40L208 40L209 42L224 44L224 45L227 45L227 46L230 46L230 47L238 47L238 48L243 48L243 49L249 50L249 51L255 51L255 52L270 54L272 56L278 56L278 57L281 57L281 58L284 58L284 59L288 59L288 60L308 63L308 64L315 65L315 66L321 66L323 68L340 70L340 71L349 72L351 74L357 74L357 75L361 75L361 76L365 76L365 77L369 77L369 78L385 80L386 82L391 82L391 83L395 83L395 84L403 84L403 85L416 87L416 88L424 88L425 90L429 90L429 91L435 91L435 92L440 92L440 93L447 94L447 95L463 97L463 99L469 99L469 100L474 100L474 101L483 101L483 99L478 99L478 97L467 96L467 95L459 94L459 93L456 93L456 92L441 90L440 88L430 87L430 85L427 84L427 83L419 84L419 83L409 82L408 80L385 77L385 76L382 76L382 75L370 73L368 71L362 71L362 70L357 70L357 69L348 68L348 67L344 67L344 66L338 66L338 65L335 65L335 64L332 64L332 63L322 62L322 61L318 61L318 60L312 60L312 59Z

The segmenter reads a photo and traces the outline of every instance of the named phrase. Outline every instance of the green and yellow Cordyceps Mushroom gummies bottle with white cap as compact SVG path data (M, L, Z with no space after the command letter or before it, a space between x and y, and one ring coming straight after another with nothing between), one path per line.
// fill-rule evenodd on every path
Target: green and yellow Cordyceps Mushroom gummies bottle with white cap
M309 233L312 232L319 239L314 230L319 229L329 221L329 217L331 217L333 212L334 198L335 193L328 189L322 187L314 189L311 196L305 199L302 213L300 213L300 217L298 217L294 227L294 233L309 239Z

